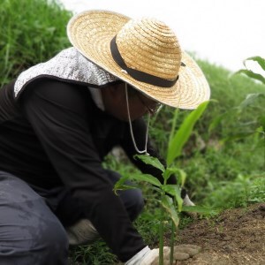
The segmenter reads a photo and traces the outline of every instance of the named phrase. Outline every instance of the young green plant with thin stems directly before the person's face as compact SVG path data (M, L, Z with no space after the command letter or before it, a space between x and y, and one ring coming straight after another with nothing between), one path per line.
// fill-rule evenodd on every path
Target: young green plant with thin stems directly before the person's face
M133 174L130 176L125 176L117 181L114 190L132 188L132 186L126 186L125 181L127 179L148 182L152 186L155 186L155 190L159 194L159 203L161 205L161 216L160 216L160 232L159 232L159 264L163 264L163 223L165 220L165 211L169 214L172 225L171 225L171 242L170 242L170 264L173 262L173 248L175 240L175 231L179 223L178 213L182 211L182 202L180 191L181 186L184 185L186 180L186 173L173 166L174 160L181 155L182 149L189 139L191 133L193 132L193 126L197 120L201 117L204 110L206 110L208 102L203 102L196 109L193 110L180 125L178 131L176 132L176 121L178 117L178 110L175 110L175 115L173 119L173 125L170 133L169 145L167 148L167 166L164 167L160 161L149 155L135 155L137 159L142 162L154 166L155 168L162 171L163 183L161 183L157 178L149 174ZM178 175L178 185L167 184L168 179L172 174Z

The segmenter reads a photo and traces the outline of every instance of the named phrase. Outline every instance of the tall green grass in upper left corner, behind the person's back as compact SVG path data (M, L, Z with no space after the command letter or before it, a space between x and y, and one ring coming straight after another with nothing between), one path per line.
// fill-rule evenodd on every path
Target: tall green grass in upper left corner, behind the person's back
M1 0L0 87L70 46L65 26L71 16L56 1Z

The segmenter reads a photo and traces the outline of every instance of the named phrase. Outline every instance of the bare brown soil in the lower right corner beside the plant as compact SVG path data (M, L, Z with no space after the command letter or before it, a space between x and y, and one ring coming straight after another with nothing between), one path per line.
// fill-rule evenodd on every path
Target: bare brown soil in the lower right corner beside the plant
M179 231L178 244L202 247L200 254L178 265L265 265L265 203L196 220Z

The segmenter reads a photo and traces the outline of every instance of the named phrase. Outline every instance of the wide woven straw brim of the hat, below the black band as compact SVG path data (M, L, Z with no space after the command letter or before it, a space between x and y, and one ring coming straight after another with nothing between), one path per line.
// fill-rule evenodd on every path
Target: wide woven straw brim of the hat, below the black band
M171 107L193 110L209 99L210 89L201 68L185 51L173 87L156 87L133 79L111 56L110 41L130 18L113 11L84 11L72 17L67 34L73 47L88 60L145 95Z

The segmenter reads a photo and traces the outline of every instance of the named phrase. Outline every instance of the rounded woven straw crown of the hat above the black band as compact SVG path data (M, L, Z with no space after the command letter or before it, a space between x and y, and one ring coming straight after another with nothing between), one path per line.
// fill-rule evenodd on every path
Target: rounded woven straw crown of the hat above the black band
M162 79L176 79L181 49L170 27L157 19L131 19L117 33L117 48L125 64Z

